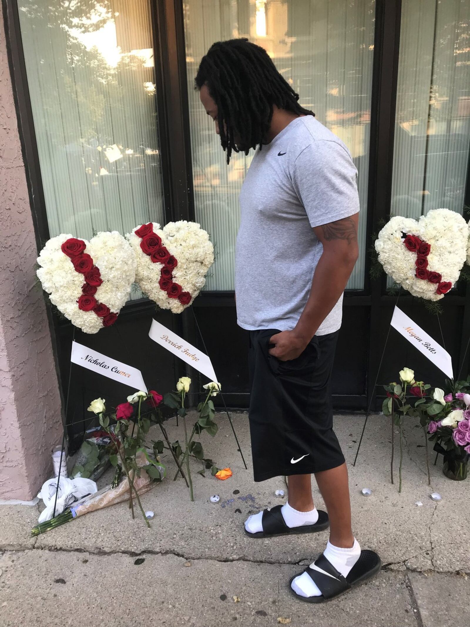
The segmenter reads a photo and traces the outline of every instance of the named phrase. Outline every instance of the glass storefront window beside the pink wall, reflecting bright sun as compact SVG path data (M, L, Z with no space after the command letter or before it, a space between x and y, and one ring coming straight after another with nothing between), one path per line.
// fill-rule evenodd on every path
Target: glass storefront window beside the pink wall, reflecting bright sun
M51 236L163 223L148 0L18 8Z

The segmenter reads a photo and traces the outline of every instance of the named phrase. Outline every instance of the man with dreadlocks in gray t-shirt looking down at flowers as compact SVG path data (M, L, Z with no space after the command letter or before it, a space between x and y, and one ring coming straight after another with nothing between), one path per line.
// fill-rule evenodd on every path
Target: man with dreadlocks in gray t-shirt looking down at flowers
M227 163L256 149L241 194L238 324L249 332L254 480L288 475L288 503L250 516L251 537L317 532L323 555L293 577L320 603L380 569L351 529L348 474L332 428L330 378L343 290L358 256L357 170L338 137L298 103L263 48L214 43L196 76ZM328 515L316 510L311 474ZM329 516L329 520L328 520Z

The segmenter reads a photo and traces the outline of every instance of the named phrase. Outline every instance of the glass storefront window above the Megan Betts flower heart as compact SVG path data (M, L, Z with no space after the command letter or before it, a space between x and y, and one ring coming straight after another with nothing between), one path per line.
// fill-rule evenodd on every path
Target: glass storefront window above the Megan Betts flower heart
M462 213L470 147L470 0L403 0L393 215Z

